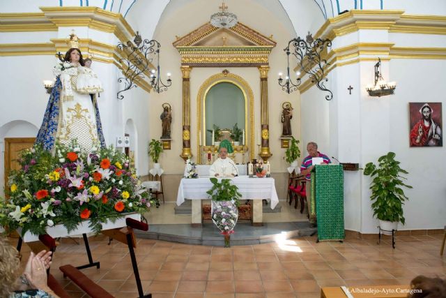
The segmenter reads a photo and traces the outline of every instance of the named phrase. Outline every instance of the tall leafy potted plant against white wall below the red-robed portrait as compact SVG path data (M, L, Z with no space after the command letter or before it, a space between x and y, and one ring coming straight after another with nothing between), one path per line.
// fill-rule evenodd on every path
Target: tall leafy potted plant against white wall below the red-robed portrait
M370 176L373 180L370 184L371 207L374 216L380 221L380 229L384 234L392 234L392 230L397 230L398 223L406 222L403 216L403 204L408 200L402 187L412 188L403 182L406 180L401 174L408 174L406 170L399 167L399 161L395 161L394 152L378 158L378 165L367 163L364 168L364 175ZM389 231L389 232L387 232Z

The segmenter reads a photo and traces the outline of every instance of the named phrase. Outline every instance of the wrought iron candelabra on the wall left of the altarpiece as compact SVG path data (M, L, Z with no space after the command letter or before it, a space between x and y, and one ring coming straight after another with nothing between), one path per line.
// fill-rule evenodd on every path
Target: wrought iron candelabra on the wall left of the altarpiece
M157 61L156 70L150 71L150 83L153 90L160 93L167 91L167 87L171 86L170 74L168 74L166 84L162 82L160 77L160 47L161 45L157 40L143 40L138 31L133 42L128 40L127 43L118 43L118 49L123 54L123 58L119 59L119 62L124 65L123 77L118 78L118 82L124 83L124 89L116 94L119 99L124 98L122 92L137 87L135 81L145 77L144 73L148 71L155 58Z

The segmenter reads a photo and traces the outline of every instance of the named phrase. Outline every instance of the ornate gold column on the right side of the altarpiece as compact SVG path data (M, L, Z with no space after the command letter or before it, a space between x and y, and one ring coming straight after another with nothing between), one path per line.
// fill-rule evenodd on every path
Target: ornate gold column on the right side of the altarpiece
M260 156L268 161L272 156L270 152L270 126L268 125L268 70L269 66L259 66L260 71L260 119L261 119L261 149Z

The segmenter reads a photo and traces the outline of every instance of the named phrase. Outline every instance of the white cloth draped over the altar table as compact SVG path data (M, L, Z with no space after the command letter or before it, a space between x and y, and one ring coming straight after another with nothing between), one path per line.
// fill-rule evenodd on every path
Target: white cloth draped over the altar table
M210 177L199 177L197 179L181 179L178 187L178 196L176 204L180 206L185 199L188 200L206 200L209 195L206 191L212 188ZM219 178L221 179L221 178ZM228 178L226 178L228 179ZM242 194L243 200L269 200L271 209L274 209L279 202L277 197L274 178L249 178L248 176L239 176L229 178L238 186L238 192Z

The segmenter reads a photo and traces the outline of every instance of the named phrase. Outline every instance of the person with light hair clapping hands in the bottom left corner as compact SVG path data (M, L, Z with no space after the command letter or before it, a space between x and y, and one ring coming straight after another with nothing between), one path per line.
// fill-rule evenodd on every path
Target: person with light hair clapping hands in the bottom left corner
M0 237L0 297L58 298L47 285L51 255L51 251L40 251L36 255L31 252L21 275L19 252Z

